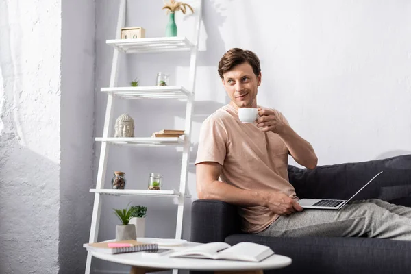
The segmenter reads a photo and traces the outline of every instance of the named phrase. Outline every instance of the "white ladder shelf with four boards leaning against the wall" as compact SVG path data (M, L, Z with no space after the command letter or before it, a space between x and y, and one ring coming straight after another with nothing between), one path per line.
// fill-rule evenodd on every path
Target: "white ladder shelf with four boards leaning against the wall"
M101 216L101 195L114 196L135 196L135 197L164 197L176 198L177 203L177 225L175 229L175 238L181 239L184 199L190 197L186 193L186 185L188 178L188 158L190 153L190 137L192 126L192 112L194 102L195 75L197 69L197 51L199 44L199 30L201 22L202 0L187 0L195 9L195 24L194 35L192 41L185 37L160 37L160 38L139 38L139 39L120 39L121 28L125 27L125 11L126 0L120 0L119 17L116 27L116 39L106 40L107 45L114 47L114 55L112 60L112 70L110 75L110 84L108 88L101 88L101 92L108 95L107 106L105 110L105 121L103 128L103 136L95 138L96 142L101 142L101 152L99 159L99 168L97 172L97 183L95 189L90 189L90 192L95 193L95 201L92 211L92 221L90 227L89 242L97 242L99 232L99 222ZM190 51L190 75L188 88L184 86L137 86L137 87L118 87L118 65L119 55L136 54L136 53L158 53L158 52L174 52L174 51ZM114 138L110 137L112 132L113 120L113 99L186 99L186 121L184 138ZM180 146L182 151L182 168L179 179L179 190L116 190L105 189L105 172L107 168L107 155L110 145L127 145L127 146L142 146L142 147L164 147L164 146ZM90 273L91 253L87 254L86 274ZM177 271L173 271L177 273Z

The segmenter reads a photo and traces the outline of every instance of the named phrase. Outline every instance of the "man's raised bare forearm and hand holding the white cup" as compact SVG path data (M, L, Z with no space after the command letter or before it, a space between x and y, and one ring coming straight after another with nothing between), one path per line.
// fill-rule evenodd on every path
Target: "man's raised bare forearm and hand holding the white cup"
M257 119L257 127L262 132L274 132L278 134L286 144L295 162L301 164L301 166L306 166L307 169L315 169L318 158L312 145L301 138L301 136L286 123L286 119L281 119L274 110L263 110L262 108L259 108L259 110L258 115L260 118Z

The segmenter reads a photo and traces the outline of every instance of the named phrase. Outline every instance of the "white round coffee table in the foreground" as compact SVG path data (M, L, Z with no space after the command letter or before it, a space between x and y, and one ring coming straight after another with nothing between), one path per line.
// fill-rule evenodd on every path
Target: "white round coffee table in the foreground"
M138 238L140 240L141 238ZM174 247L182 249L193 245L201 245L195 242L186 242L183 245ZM161 247L159 248L170 248ZM121 253L121 254L105 254L92 252L92 256L109 262L118 264L127 264L132 266L131 273L146 273L151 271L159 271L166 269L188 269L191 271L260 271L263 269L280 269L291 264L291 258L274 254L266 258L262 262L242 262L232 260L208 260L195 258L170 258L169 256L161 256L160 258L147 258L142 255L142 252ZM258 272L256 272L258 273Z

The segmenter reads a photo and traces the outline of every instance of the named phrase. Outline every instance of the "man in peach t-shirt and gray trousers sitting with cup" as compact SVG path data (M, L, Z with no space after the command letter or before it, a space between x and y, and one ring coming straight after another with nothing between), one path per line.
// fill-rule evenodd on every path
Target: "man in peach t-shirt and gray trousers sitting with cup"
M262 79L257 55L230 49L219 62L219 75L231 101L201 127L196 160L199 199L238 205L242 230L263 236L411 240L411 208L371 199L338 211L303 210L288 182L288 155L314 169L316 154L281 112L257 104ZM238 108L258 108L259 117L242 123Z

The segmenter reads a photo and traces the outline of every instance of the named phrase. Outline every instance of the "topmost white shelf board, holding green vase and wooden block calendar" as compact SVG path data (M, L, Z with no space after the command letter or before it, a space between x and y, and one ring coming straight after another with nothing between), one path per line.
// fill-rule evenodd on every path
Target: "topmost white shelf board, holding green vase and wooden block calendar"
M106 40L106 43L124 53L188 51L195 47L195 45L185 37L114 39Z

